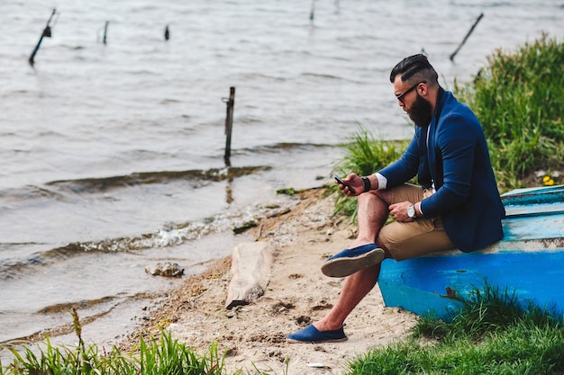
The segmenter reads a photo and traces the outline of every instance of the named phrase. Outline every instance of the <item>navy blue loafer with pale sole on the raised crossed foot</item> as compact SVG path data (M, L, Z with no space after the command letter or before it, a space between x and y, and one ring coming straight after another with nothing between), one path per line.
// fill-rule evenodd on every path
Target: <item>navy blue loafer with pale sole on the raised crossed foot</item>
M321 272L329 277L349 276L382 262L384 254L384 250L375 244L345 249L327 259L321 266Z

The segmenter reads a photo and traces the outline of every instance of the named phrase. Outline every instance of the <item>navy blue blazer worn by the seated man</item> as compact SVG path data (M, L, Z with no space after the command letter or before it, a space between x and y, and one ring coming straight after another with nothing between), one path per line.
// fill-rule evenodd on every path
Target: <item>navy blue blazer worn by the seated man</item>
M423 215L441 215L450 241L459 250L478 250L504 237L505 209L484 130L476 115L452 93L440 88L429 131L415 126L404 155L380 174L387 178L388 189L415 174L423 187L434 183L436 192L421 202Z

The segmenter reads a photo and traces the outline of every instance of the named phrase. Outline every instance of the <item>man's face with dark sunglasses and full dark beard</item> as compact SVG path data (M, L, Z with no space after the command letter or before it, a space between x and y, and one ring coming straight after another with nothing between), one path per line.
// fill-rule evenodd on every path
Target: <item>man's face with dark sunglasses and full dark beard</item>
M402 82L400 76L394 81L394 92L399 106L404 109L415 125L426 128L431 123L432 104L419 94L419 85Z

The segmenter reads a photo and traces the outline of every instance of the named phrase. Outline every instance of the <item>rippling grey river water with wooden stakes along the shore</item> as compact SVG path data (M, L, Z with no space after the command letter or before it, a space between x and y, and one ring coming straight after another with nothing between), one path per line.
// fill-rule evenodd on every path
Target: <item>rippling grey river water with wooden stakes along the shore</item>
M233 227L291 205L277 189L330 182L358 124L409 138L388 81L401 58L424 51L449 89L494 49L564 35L562 0L5 0L0 13L0 344L68 324L70 307L92 318L87 339L111 342L141 315L135 297L179 282L146 266L189 274L231 254L250 240Z

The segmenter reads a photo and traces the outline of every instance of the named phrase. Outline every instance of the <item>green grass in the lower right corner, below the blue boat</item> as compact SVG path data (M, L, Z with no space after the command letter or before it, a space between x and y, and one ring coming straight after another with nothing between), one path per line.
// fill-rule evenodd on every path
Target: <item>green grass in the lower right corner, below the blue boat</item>
M450 322L419 318L405 341L349 363L350 375L561 374L561 316L519 305L513 293L486 285Z

